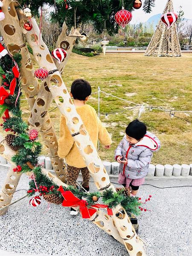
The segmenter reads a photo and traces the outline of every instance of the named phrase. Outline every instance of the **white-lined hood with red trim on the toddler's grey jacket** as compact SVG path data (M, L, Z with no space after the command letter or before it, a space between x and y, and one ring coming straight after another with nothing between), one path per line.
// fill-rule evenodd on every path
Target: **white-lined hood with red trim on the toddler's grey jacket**
M153 136L153 134L147 132L143 137L143 139L137 142L134 146L143 146L143 147L149 148L152 151L158 150L159 148L158 140L156 140L156 137L154 136L151 137L150 135Z

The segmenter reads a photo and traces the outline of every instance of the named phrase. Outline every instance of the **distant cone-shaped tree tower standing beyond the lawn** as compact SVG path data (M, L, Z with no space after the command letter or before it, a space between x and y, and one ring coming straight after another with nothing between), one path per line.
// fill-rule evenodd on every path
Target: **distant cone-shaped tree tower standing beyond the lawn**
M164 13L173 12L173 1L168 0ZM178 32L176 24L173 24L169 29L159 21L157 29L154 32L151 42L149 43L145 56L156 56L156 57L180 57L181 49L178 38Z

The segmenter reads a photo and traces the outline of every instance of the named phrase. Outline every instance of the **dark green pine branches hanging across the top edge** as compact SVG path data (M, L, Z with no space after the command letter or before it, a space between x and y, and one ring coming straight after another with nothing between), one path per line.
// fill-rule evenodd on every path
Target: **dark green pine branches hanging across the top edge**
M38 9L44 4L52 6L52 21L58 22L60 26L65 22L68 28L74 26L74 13L76 11L76 25L93 23L94 30L102 33L104 20L109 35L116 34L119 26L114 20L114 15L122 8L122 1L119 0L67 0L69 6L65 9L64 0L19 0L21 6L29 6L35 15L39 15ZM133 11L133 0L124 0L125 9ZM151 12L154 0L145 0L143 9Z

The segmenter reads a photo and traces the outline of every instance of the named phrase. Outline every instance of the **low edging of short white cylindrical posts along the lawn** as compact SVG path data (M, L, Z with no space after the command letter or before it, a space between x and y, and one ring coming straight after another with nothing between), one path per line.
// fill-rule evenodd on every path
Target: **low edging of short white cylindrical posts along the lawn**
M52 164L49 157L39 156L38 163L41 164L46 170L52 171ZM112 178L116 178L119 175L119 163L117 162L108 162L103 161L103 165L108 173L108 175ZM4 166L9 168L11 165L7 163L7 160L0 156L0 166ZM159 179L159 178L192 178L192 163L191 164L166 164L161 165L157 164L156 166L153 164L149 165L148 175L146 176L148 179Z

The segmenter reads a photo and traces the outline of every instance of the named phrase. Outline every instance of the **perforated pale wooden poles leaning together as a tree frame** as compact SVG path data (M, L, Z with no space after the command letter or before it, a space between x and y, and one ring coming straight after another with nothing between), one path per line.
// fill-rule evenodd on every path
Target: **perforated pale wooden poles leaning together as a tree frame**
M132 1L129 1L130 3ZM15 52L20 52L22 55L20 73L23 91L25 92L31 110L29 124L31 128L38 129L41 132L41 137L47 147L57 177L45 170L44 173L58 185L66 186L63 183L65 181L64 162L57 154L57 137L48 113L49 106L52 99L54 99L59 111L67 120L70 134L73 136L79 148L79 152L95 181L97 189L104 191L105 189L111 188L115 192L116 190L110 183L109 176L97 154L96 148L90 140L89 134L81 117L76 112L70 94L61 78L61 73L67 63L67 59L61 64L53 60L47 45L42 40L35 18L30 20L33 29L26 31L23 27L24 23L27 22L26 16L23 15L23 11L19 8L15 9L15 6L17 6L17 2L3 0L2 10L5 14L5 19L0 21L0 32L3 35L9 53L13 55ZM76 36L70 37L66 35L66 30L67 26L64 24L61 35L58 38L57 46L65 49L69 58L79 32L77 32ZM35 70L26 47L26 42L32 48L38 65L49 71L49 76L41 83L41 86L38 80L34 78ZM9 148L3 137L0 140L0 155L11 162L11 157L16 152ZM2 191L0 192L0 208L5 207L11 202L20 179L20 174L13 172L13 167L14 164L10 167ZM5 214L7 209L8 207L0 210L0 215ZM125 209L121 205L113 209L112 216L108 216L105 212L98 210L90 220L124 244L130 256L145 256L143 241L137 236Z

